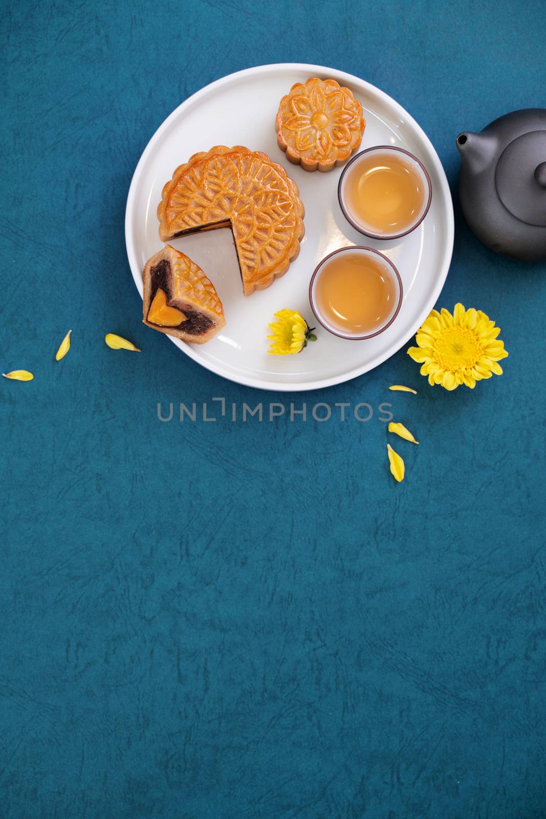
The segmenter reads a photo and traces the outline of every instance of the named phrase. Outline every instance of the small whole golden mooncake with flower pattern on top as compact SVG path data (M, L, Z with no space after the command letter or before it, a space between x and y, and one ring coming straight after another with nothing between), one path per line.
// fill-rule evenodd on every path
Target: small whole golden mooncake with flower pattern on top
M352 91L335 79L311 77L292 85L278 107L278 147L304 170L343 165L362 142L366 123Z

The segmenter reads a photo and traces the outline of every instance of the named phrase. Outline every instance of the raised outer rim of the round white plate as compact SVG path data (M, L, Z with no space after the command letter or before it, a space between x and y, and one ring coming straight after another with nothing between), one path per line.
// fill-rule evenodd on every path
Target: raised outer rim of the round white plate
M125 229L125 248L127 251L127 257L129 260L129 268L131 269L131 274L133 276L134 283L137 286L138 292L142 297L142 270L140 269L140 265L138 265L138 260L136 258L136 252L134 251L134 241L133 241L133 210L134 204L136 201L136 191L138 188L138 183L140 182L140 178L142 176L144 167L146 165L148 156L151 154L153 148L155 147L156 143L160 140L162 134L169 129L170 124L178 118L179 115L183 113L183 111L190 106L194 106L196 102L200 100L201 97L205 97L205 95L209 93L213 93L215 89L221 88L223 85L231 84L234 80L237 79L244 79L250 75L256 74L264 74L270 71L287 71L287 70L294 70L294 71L305 71L310 72L310 75L316 74L327 74L338 81L341 79L343 82L347 84L356 84L360 88L365 88L368 93L372 93L373 95L377 95L377 97L381 98L383 102L387 105L393 106L395 111L399 113L404 118L406 124L409 124L414 130L417 131L417 134L422 138L423 142L428 147L429 152L431 153L432 160L435 162L436 171L438 172L439 179L440 179L440 190L442 192L441 199L444 204L444 210L446 211L446 231L447 231L447 241L445 242L445 247L441 259L440 265L440 273L435 280L435 287L432 288L430 295L426 298L425 304L426 307L423 309L415 319L415 322L412 322L413 330L411 333L408 334L407 337L404 336L404 341L396 347L395 350L386 351L386 353L381 353L376 356L376 358L372 359L372 361L368 361L363 366L355 367L353 369L347 370L345 373L341 373L335 376L331 376L330 378L318 378L314 381L310 382L276 382L276 381L267 381L264 379L257 379L252 378L251 376L246 375L246 373L238 373L237 376L233 373L226 373L225 369L221 365L216 364L214 361L205 361L202 360L199 352L194 350L191 344L184 344L180 342L179 339L167 336L171 342L173 342L180 350L183 351L186 355L188 355L192 360L196 362L196 364L201 364L201 367L205 367L205 369L210 370L210 372L215 373L216 375L221 376L222 378L227 378L228 381L235 382L237 384L241 384L246 387L254 387L255 389L261 390L268 390L274 392L300 392L300 391L312 391L323 389L324 387L333 387L336 384L342 384L347 381L351 381L353 378L358 378L360 375L364 375L365 373L369 373L372 369L376 369L380 364L383 364L386 360L390 359L392 355L395 355L399 350L404 347L412 338L417 329L422 325L423 321L425 321L427 315L431 312L432 308L435 305L438 297L440 296L440 292L442 291L445 283L445 279L447 278L447 274L449 272L449 266L451 265L451 259L453 256L453 242L454 242L454 232L455 232L455 219L453 213L453 200L451 197L451 191L449 189L448 179L445 175L444 166L440 161L440 157L438 156L435 147L431 143L431 140L427 137L426 133L422 129L421 125L417 123L416 120L413 119L413 116L408 114L408 111L405 110L403 106L396 102L393 97L390 97L385 91L381 91L381 88L377 88L377 86L368 83L367 80L361 79L356 75L349 74L346 71L342 71L336 68L329 68L327 66L318 66L312 63L305 63L305 62L278 62L278 63L268 63L264 66L252 66L250 68L245 68L240 71L233 71L232 74L225 75L220 77L219 79L215 79L212 83L205 85L203 88L200 88L198 91L193 93L190 97L187 97L183 102L177 106L174 111L163 120L160 124L159 128L156 129L155 133L152 134L150 140L147 143L147 146L142 151L140 159L138 160L137 166L133 172L133 177L131 179L131 183L129 185L129 192L127 195L127 202L125 205L125 220L124 220L124 229ZM178 343L179 342L179 343Z

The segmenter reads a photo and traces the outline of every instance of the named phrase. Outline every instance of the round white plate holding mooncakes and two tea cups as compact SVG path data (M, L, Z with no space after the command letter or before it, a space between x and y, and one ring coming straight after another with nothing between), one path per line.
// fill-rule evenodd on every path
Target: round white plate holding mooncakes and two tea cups
M337 201L342 168L309 173L292 165L277 145L275 115L281 97L309 77L332 77L362 103L366 129L361 148L407 148L431 176L431 208L422 224L400 239L363 237L345 221ZM287 170L305 205L305 238L287 274L267 290L242 295L237 252L230 229L195 233L171 244L190 256L214 283L226 326L207 344L170 337L186 355L214 373L266 390L313 390L348 381L381 364L408 342L440 295L453 251L453 204L435 149L397 102L363 79L324 66L281 63L258 66L218 79L178 106L151 138L129 188L125 241L129 265L142 296L142 269L162 247L156 207L174 169L213 145L245 145L264 151ZM364 240L364 241L363 241ZM309 279L318 262L338 247L376 247L390 258L404 283L404 303L381 335L362 342L336 338L318 327L318 341L298 355L268 355L268 323L283 307L300 310L313 324Z

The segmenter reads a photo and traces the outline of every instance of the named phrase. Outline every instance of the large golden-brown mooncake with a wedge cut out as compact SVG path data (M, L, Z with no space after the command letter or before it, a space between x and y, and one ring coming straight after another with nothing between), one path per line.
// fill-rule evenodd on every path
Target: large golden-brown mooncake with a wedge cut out
M245 296L287 272L305 209L296 183L261 151L216 145L179 165L163 188L160 238L231 224Z

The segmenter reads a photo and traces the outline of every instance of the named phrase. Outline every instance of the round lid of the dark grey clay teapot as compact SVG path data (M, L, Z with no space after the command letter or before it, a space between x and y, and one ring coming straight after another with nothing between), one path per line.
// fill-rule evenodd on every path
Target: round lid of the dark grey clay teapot
M495 170L503 206L526 224L546 227L546 131L522 133L504 149Z

